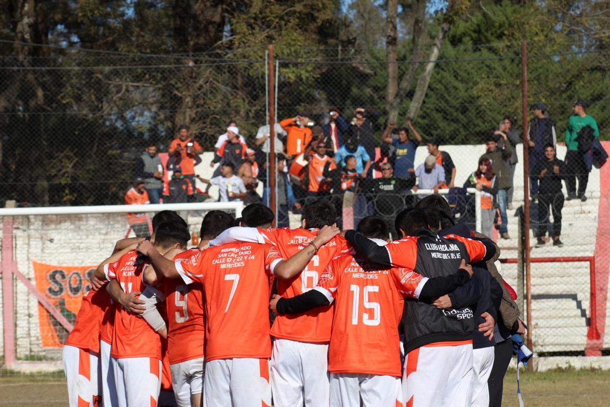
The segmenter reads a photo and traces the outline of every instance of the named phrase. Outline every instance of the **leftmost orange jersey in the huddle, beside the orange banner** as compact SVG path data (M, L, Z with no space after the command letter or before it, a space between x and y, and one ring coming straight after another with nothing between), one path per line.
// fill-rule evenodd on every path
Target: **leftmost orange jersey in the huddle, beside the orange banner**
M88 349L99 353L99 334L102 319L110 306L110 295L106 289L89 290L82 297L81 309L76 315L74 329L68 335L65 345Z

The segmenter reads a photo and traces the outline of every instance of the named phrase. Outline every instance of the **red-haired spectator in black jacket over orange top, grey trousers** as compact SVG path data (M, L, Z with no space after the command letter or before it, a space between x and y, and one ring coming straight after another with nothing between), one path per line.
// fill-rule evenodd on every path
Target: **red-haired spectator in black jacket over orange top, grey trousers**
M498 178L492 170L492 163L488 158L479 159L479 168L464 182L464 188L476 188L481 192L481 232L485 236L492 236L493 197L498 193Z

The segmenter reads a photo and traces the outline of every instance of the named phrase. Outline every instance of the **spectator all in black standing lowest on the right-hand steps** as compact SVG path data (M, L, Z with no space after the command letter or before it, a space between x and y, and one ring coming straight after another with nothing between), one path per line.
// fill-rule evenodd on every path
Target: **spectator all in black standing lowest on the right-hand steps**
M540 179L540 195L538 205L538 236L536 247L544 246L547 234L548 207L553 211L553 246L562 247L561 209L564 207L564 193L561 180L565 176L565 164L557 159L555 147L552 144L544 146L545 159L536 163L533 173Z

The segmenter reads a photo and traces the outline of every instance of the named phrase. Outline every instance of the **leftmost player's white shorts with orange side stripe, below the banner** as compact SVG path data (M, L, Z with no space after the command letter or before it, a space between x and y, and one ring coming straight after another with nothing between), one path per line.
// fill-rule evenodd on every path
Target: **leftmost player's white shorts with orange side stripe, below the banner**
M68 382L70 407L101 405L99 354L66 345L62 351L62 362Z

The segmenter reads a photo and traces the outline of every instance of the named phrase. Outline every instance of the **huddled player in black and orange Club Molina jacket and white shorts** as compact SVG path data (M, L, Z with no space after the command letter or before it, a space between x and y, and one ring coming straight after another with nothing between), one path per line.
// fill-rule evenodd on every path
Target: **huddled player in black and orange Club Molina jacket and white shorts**
M400 240L379 247L362 234L346 231L357 253L371 262L404 267L426 277L448 276L468 263L486 261L495 254L489 239L467 239L454 234L438 236L429 229L435 208L406 209L395 227ZM438 225L433 225L438 226ZM472 332L470 308L437 309L422 301L405 301L403 311L403 400L409 406L467 406L472 401Z

